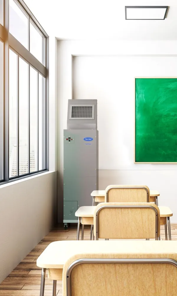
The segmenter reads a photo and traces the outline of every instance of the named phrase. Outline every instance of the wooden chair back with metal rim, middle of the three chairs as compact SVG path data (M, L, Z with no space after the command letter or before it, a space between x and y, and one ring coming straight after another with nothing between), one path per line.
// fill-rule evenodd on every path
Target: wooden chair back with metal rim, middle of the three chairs
M152 239L160 236L160 211L155 204L101 203L94 211L94 236L101 239Z

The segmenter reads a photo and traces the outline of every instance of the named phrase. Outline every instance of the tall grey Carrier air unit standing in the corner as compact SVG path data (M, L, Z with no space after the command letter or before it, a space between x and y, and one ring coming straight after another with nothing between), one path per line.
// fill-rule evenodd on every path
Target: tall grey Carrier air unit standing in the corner
M77 222L78 207L92 205L98 189L97 100L69 100L64 130L63 222Z

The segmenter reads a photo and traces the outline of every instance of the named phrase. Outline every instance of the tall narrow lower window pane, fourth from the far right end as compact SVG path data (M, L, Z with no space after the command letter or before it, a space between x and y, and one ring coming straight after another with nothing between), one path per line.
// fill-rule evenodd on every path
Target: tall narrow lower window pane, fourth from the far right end
M17 54L9 49L9 178L17 176Z

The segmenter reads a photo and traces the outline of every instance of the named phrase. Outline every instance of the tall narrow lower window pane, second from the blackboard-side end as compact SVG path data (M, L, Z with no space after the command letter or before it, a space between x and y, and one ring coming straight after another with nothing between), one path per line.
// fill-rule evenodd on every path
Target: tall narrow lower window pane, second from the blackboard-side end
M30 66L30 173L37 171L37 71Z

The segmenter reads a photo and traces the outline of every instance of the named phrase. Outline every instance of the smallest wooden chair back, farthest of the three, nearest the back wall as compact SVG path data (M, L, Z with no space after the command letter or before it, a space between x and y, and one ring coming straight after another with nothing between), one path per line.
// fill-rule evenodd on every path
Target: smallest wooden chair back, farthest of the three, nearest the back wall
M109 185L105 202L150 202L150 190L145 185Z

